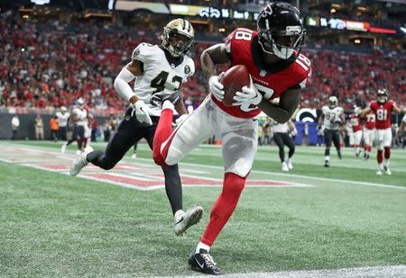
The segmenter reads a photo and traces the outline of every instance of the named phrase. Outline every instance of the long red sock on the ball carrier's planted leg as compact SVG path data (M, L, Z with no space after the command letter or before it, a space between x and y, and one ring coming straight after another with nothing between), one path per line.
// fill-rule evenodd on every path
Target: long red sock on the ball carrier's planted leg
M224 175L223 191L217 198L210 213L208 227L201 238L201 242L212 246L221 229L226 225L227 220L235 210L240 194L245 186L245 178L233 173Z

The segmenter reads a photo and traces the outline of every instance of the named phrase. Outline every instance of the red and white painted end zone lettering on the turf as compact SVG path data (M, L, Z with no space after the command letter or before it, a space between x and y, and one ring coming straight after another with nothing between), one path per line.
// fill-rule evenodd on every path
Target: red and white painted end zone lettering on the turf
M69 175L69 166L74 159L73 155L63 155L62 160L60 159L60 153L24 147L6 147L3 155L7 153L10 157L0 158L1 161L56 172L63 175ZM63 162L61 163L61 161ZM67 161L69 161L69 163L66 163ZM149 164L145 164L147 161ZM213 178L208 175L211 175L208 171L188 168L180 170L180 178L183 186L218 187L223 185L222 179ZM161 172L161 168L152 165L151 159L137 159L135 162L131 163L122 161L115 166L113 171L104 171L97 166L90 164L78 176L97 182L105 182L139 190L164 188L164 176ZM250 179L247 181L246 186L312 187L313 185L268 179Z

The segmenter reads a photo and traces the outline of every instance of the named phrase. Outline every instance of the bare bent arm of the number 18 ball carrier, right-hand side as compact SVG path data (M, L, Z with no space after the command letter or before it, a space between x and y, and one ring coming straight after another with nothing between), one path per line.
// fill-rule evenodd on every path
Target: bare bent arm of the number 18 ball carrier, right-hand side
M261 103L258 103L258 108L279 123L289 121L298 107L300 92L301 89L288 89L281 94L279 104L263 99Z

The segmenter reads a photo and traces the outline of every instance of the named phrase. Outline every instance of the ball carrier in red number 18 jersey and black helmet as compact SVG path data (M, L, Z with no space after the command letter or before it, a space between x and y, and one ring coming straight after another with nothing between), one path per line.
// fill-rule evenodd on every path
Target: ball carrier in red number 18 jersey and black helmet
M174 165L192 149L217 133L223 143L223 189L214 204L208 226L189 256L189 266L205 274L223 274L208 254L233 214L257 149L257 121L261 111L278 122L291 119L300 91L308 85L309 58L300 54L305 30L299 10L286 3L267 4L258 16L258 32L237 28L225 43L203 51L200 60L211 94L171 131L173 105L162 99L162 114L153 139L153 158L161 166ZM221 77L216 65L231 61L245 65L252 81L235 95L234 106L222 103ZM280 97L280 103L270 100Z

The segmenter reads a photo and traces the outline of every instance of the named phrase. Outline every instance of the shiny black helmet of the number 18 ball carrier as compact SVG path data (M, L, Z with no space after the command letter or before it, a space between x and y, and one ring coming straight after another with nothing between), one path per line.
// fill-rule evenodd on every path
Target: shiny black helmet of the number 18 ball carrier
M263 51L279 58L290 58L300 51L306 30L297 7L288 3L267 4L257 20L258 39Z

